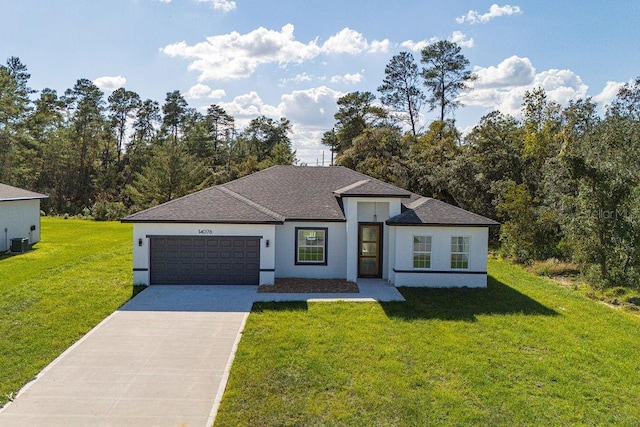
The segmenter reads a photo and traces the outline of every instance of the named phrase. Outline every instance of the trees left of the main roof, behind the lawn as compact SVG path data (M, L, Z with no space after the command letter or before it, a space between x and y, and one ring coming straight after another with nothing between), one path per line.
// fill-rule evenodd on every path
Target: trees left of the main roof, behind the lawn
M275 164L292 164L291 124L265 116L237 130L218 105L164 103L79 79L58 95L29 87L16 57L0 66L0 182L49 195L43 210L119 219Z

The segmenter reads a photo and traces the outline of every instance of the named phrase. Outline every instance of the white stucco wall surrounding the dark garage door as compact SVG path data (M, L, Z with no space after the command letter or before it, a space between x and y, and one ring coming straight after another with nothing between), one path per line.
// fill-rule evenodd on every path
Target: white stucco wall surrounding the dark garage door
M260 270L275 268L275 226L273 224L133 224L133 282L149 284L149 238L147 236L260 236ZM142 246L139 246L142 239ZM266 241L269 240L269 247ZM260 284L270 285L273 271L260 272Z

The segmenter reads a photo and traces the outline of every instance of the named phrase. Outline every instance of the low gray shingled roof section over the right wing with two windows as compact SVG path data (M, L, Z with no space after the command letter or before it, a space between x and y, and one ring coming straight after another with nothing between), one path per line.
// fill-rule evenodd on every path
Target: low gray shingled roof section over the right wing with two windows
M440 200L421 197L405 205L405 211L387 220L389 225L497 226L500 223Z

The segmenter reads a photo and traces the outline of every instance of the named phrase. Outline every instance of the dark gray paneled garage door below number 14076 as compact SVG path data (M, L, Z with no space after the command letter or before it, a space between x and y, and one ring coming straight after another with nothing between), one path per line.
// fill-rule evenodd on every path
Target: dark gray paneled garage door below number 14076
M151 237L152 285L257 285L260 238Z

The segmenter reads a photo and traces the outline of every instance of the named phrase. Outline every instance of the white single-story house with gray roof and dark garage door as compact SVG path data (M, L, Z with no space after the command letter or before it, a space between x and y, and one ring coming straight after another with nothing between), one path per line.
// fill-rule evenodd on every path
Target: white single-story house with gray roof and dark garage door
M122 220L138 284L486 287L497 222L339 166L274 166Z

